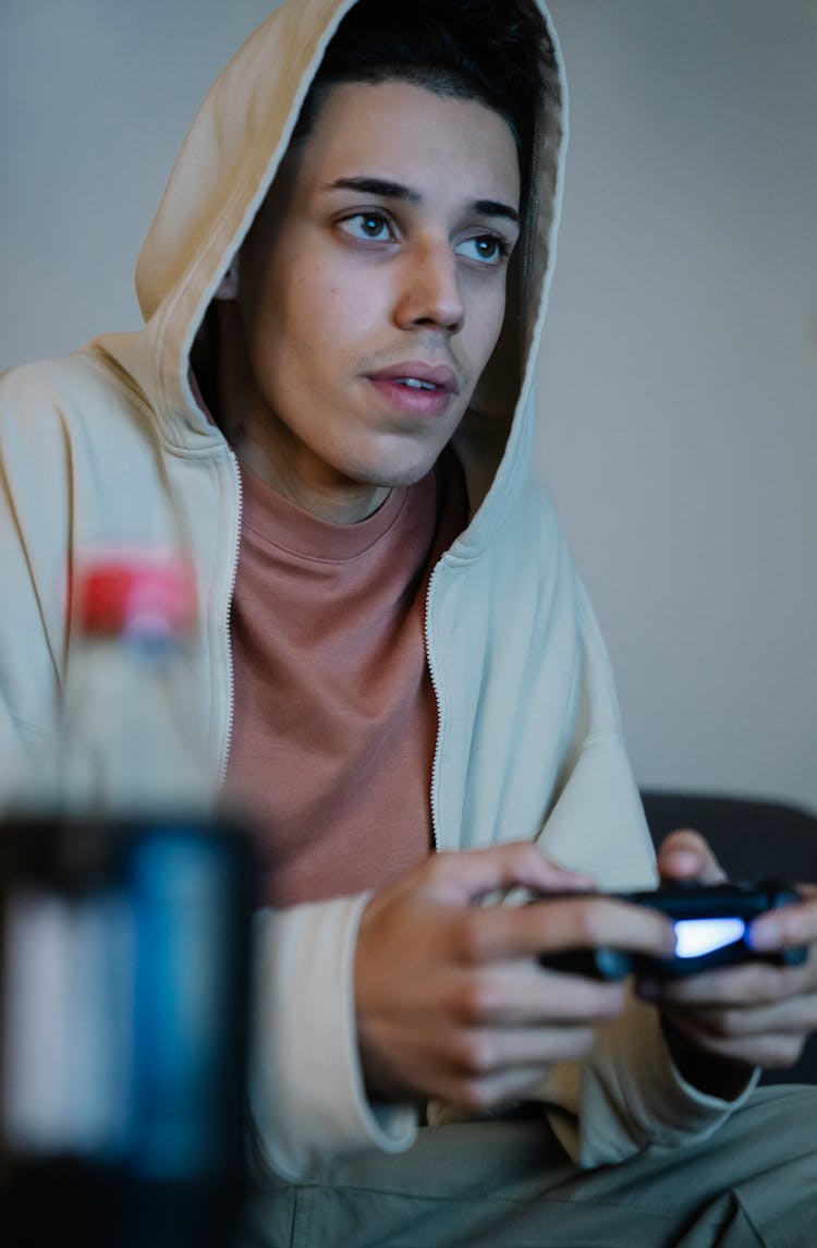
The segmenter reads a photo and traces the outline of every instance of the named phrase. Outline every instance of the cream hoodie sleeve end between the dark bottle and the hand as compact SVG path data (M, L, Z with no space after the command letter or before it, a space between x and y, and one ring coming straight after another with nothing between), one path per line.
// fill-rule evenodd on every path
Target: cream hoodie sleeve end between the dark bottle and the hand
M296 1181L339 1157L400 1152L410 1106L373 1106L363 1086L353 962L368 894L262 910L254 931L249 1107L262 1161Z

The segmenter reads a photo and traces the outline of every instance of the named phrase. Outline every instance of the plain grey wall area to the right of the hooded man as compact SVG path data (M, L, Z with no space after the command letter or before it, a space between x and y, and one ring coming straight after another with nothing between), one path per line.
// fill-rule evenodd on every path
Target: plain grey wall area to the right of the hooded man
M817 4L554 10L539 459L636 771L817 807Z

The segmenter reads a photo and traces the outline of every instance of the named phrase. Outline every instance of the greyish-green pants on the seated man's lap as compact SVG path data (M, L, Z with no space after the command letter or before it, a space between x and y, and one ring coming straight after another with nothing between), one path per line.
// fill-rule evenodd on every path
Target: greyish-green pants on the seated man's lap
M543 1122L425 1128L274 1182L241 1248L817 1248L817 1088L755 1093L706 1144L578 1171Z

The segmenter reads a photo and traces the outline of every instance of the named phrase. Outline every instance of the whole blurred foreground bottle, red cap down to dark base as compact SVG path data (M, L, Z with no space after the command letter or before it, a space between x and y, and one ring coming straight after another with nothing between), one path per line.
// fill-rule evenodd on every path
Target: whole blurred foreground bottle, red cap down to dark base
M15 1248L228 1242L252 861L216 811L196 625L176 558L76 577L56 809L11 829L4 872Z

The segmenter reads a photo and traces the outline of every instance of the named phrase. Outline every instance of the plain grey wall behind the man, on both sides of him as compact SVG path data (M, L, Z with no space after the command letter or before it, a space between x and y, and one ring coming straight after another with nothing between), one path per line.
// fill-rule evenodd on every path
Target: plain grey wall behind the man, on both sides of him
M817 4L555 0L539 463L639 779L817 809ZM0 366L137 323L178 141L267 0L0 0Z

